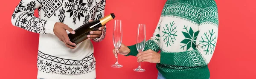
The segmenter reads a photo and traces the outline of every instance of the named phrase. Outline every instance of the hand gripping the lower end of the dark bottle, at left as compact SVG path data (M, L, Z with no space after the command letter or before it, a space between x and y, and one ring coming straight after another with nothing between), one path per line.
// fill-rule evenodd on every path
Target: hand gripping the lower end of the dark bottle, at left
M64 23L55 23L54 28L53 28L53 32L59 38L59 40L64 42L64 44L68 48L74 49L74 48L76 48L76 44L70 41L66 30L69 31L71 34L75 34L75 31L73 31L72 28L68 27ZM71 45L73 45L75 47L73 47Z

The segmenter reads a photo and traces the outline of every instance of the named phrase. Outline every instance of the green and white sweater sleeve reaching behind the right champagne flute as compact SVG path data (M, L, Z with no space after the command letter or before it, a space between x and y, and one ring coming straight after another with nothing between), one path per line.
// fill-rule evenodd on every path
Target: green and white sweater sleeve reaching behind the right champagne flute
M162 17L160 17L160 19L159 19L159 21L157 23L157 28L155 29L153 36L150 37L150 39L146 41L145 48L144 48L143 51L146 51L148 49L151 49L151 50L153 50L155 52L160 51L160 47L159 47L159 43L160 43L159 29L160 29L161 19L162 19ZM128 46L128 48L130 48L131 52L128 55L126 55L126 56L130 56L130 55L136 56L139 53L137 51L136 44Z

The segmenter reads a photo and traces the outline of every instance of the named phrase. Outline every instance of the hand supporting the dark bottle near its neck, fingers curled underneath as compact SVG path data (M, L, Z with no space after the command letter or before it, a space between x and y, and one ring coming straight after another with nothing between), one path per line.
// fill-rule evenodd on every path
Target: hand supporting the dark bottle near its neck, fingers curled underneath
M93 20L89 20L89 22L92 22ZM102 31L105 27L102 26L99 28L99 31L90 31L90 34L87 35L88 39L95 39L102 35Z

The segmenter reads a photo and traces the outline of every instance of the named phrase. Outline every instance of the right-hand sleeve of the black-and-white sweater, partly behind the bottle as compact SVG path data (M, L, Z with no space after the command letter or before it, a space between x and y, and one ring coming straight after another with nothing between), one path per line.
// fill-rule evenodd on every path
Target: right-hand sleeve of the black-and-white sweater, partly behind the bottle
M99 20L99 19L104 17L105 4L106 4L106 0L101 0L99 2L99 4L97 4L97 6L96 6L97 10L96 10L96 12L94 14L94 17L93 17L94 20ZM98 38L93 39L94 42L100 42L100 41L102 41L105 38L105 35L106 35L106 25L104 25L104 26L105 26L105 29L103 29L102 35L100 37L98 37Z

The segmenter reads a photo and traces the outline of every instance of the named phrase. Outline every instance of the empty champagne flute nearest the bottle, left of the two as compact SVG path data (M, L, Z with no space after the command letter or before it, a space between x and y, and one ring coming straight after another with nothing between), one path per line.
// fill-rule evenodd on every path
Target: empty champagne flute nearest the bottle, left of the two
M114 21L113 28L113 43L116 50L118 50L122 44L122 20ZM116 54L116 63L111 65L113 68L122 68L122 65L118 63L118 58Z

